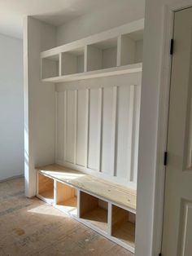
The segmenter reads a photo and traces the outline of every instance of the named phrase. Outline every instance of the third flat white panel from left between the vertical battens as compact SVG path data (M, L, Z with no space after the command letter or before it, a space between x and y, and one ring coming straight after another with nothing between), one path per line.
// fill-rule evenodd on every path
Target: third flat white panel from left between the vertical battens
M85 166L86 90L78 90L76 126L76 164Z

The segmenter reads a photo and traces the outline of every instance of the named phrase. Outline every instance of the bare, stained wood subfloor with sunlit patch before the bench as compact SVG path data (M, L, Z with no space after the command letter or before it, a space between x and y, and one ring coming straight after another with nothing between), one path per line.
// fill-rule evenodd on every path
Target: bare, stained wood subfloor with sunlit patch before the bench
M36 197L24 179L0 183L0 255L133 256Z

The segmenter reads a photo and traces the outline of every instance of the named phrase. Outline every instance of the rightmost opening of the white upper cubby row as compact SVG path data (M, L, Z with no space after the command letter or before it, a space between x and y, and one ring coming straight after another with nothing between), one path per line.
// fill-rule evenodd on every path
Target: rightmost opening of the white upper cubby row
M120 40L120 65L142 62L143 31L124 34Z

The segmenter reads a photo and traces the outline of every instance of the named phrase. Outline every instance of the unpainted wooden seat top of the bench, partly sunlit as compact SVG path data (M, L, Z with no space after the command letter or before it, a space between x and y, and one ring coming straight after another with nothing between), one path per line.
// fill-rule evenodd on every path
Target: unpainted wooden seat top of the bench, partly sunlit
M107 201L136 210L136 191L133 189L55 164L36 169L52 179L68 183L85 192L91 192L95 196L101 196Z

